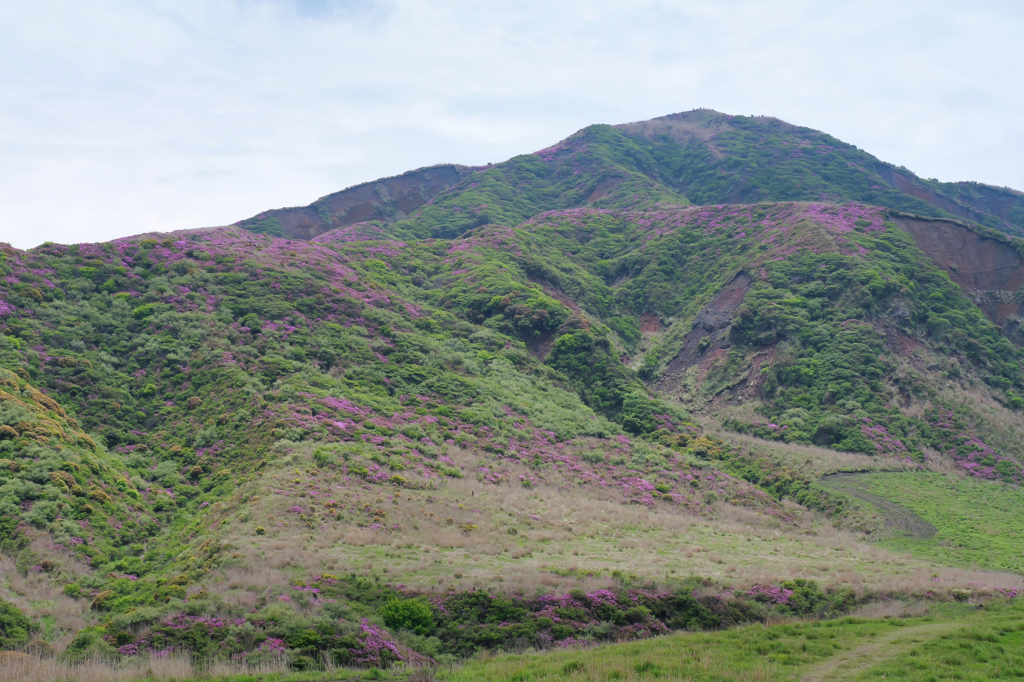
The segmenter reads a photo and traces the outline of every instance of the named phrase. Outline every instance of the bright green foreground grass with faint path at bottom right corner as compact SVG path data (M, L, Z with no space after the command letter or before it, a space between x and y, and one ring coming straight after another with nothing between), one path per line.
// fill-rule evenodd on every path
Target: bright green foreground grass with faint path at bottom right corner
M593 649L482 656L442 672L487 680L1013 679L1024 676L1024 609L945 606L915 619L842 619L687 633Z

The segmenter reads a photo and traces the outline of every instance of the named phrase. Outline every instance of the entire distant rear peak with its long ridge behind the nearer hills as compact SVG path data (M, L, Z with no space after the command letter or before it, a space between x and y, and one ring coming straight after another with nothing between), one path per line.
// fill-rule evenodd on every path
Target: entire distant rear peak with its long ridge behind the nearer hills
M503 164L434 166L236 224L311 239L335 227L381 220L417 237L452 238L482 224L518 224L540 211L560 208L801 201L859 202L959 218L1024 237L1020 191L923 180L817 130L710 110L589 126Z

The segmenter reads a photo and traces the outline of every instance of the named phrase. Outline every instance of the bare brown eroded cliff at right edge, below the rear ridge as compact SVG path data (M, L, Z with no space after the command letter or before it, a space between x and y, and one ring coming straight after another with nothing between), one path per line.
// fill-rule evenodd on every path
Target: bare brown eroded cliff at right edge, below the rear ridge
M1010 244L949 220L893 216L936 265L1015 343L1024 342L1024 258Z

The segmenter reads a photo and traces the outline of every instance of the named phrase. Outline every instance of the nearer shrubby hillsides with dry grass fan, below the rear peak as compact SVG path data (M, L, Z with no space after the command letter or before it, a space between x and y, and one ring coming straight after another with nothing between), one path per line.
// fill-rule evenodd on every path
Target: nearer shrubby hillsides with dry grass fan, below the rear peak
M617 586L650 591L656 612L657 591L692 591L693 574L709 589L828 580L815 594L842 609L923 593L936 571L946 595L979 582L837 532L876 527L870 510L701 435L686 408L728 408L716 401L742 386L763 422L727 413L734 432L1020 475L890 355L894 335L913 338L956 358L945 381L1016 407L1014 348L880 209L555 211L455 241L229 228L4 257L0 359L37 415L12 412L0 445L3 542L24 577L8 589L31 604L58 586L77 610L50 631L81 655L223 652L233 631L204 621L184 641L168 624L230 617L256 633L236 653L280 640L299 666L325 651L384 665L384 605L423 593ZM52 617L53 597L37 603L27 612ZM445 603L428 607L429 636L381 641L462 655L640 622L442 636ZM767 617L757 603L709 624ZM644 632L685 627L671 613ZM310 628L326 634L303 644Z

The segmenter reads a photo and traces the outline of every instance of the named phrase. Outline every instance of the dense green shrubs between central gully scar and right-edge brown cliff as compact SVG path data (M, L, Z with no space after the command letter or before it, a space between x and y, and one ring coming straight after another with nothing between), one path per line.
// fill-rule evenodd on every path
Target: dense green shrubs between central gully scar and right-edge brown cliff
M1008 402L1016 404L1012 388L1022 385L1021 369L1016 349L998 329L905 233L853 235L851 241L869 247L874 258L797 252L766 264L768 276L748 294L730 335L739 346L776 347L764 386L770 423L734 426L761 437L865 454L921 459L923 445L947 450L945 431L907 419L893 404L889 385L907 396L924 392L918 378L900 376L886 348L887 334L869 324L897 303L903 333L972 358L982 377L1008 389ZM1007 479L1018 476L1011 470Z

